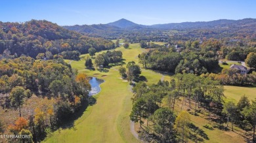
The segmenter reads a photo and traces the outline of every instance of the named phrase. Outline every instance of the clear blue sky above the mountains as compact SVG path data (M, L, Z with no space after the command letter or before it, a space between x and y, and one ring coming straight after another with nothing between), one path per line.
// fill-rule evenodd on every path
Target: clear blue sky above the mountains
M48 20L58 25L107 24L121 18L137 24L167 24L256 18L255 0L1 0L1 22Z

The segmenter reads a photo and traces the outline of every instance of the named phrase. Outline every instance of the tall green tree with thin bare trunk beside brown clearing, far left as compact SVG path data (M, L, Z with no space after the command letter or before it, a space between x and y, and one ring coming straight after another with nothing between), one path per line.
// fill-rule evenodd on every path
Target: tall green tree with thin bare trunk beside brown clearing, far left
M11 99L11 104L14 108L18 108L20 112L20 107L25 101L26 94L25 94L25 89L21 86L16 86L12 88L10 97ZM20 112L20 117L21 117L21 112Z

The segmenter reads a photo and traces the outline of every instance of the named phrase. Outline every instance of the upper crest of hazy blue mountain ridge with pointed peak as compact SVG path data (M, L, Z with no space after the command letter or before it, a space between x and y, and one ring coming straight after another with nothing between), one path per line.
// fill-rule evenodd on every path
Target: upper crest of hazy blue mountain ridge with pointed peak
M71 26L64 26L66 29L75 30L75 29L82 29L79 30L81 32L91 32L97 30L105 30L107 29L143 29L143 28L153 28L153 29L188 29L188 28L211 28L211 27L224 27L224 26L243 26L247 24L254 24L256 23L255 18L245 18L242 20L213 20L209 22L181 22L181 23L169 23L169 24L154 24L154 25L141 25L135 24L129 20L122 18L121 20L117 20L116 22L111 22L108 24L93 24L93 25L71 25ZM78 28L79 27L79 28ZM77 31L77 30L75 30Z

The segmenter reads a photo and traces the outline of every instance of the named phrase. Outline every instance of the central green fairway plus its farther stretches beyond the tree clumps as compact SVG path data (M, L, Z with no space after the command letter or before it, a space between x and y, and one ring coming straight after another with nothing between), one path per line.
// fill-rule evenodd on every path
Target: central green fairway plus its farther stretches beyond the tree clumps
M123 52L125 63L138 63L138 55L144 49L139 48L139 44L130 44L128 49L120 47L116 50ZM79 72L104 79L105 82L100 85L102 91L96 95L96 104L85 110L83 116L75 121L74 127L55 131L45 142L139 142L130 129L129 114L133 93L129 83L120 78L118 67L112 67L109 72L99 72L85 69L83 60L66 62ZM145 69L142 69L142 75L147 78L148 84L156 83L160 79L170 80L169 76Z

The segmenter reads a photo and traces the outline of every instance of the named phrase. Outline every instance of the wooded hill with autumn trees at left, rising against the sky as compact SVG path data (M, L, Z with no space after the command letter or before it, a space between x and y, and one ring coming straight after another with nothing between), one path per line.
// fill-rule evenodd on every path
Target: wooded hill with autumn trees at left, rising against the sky
M109 40L91 38L46 20L31 20L24 23L0 22L0 54L4 57L22 54L35 58L38 54L52 59L60 54L72 59L68 52L88 53L89 48L97 51L115 48Z

